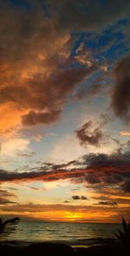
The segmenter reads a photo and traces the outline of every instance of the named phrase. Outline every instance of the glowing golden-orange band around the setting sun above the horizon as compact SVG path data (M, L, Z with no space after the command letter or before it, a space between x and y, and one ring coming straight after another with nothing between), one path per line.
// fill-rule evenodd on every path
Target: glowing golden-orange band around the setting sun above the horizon
M17 214L18 216L26 216L35 219L48 219L53 221L68 221L68 222L119 222L120 213L124 211L114 206L108 208L104 205L3 205L1 214ZM123 212L124 213L124 212ZM126 217L130 210L126 207ZM124 214L123 214L124 215Z

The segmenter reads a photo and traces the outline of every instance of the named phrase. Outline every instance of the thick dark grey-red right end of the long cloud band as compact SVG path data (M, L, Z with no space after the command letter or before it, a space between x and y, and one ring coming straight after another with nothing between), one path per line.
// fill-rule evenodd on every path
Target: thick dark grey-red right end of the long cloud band
M85 156L84 160L84 163L88 163L88 169L95 170L85 176L90 186L117 185L122 190L122 185L130 179L130 152L116 152L109 156L107 154L90 154Z

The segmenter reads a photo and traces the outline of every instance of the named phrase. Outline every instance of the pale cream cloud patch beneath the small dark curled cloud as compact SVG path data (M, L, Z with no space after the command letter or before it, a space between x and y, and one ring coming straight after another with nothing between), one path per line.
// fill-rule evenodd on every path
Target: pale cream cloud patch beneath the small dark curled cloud
M80 113L75 114L75 118L77 120L77 117ZM85 114L86 119L86 114ZM100 118L101 119L101 118ZM106 123L106 118L100 121L100 124L95 122L95 127L101 127L101 131L104 128L104 123ZM82 124L81 120L79 121L80 124ZM86 121L85 121L86 123ZM98 124L98 125L97 125ZM76 127L78 127L76 125ZM105 129L104 129L105 131ZM73 132L73 134L65 134L62 136L62 138L57 139L56 144L51 148L51 151L49 152L49 155L47 156L51 161L58 163L68 163L68 161L71 161L72 159L77 159L82 157L85 154L89 154L90 152L93 153L106 153L111 154L114 152L115 148L117 148L117 145L115 145L115 142L107 137L107 134L103 134L103 138L101 140L101 146L94 146L94 145L88 145L88 146L82 146L79 143L79 139L75 136L76 133Z

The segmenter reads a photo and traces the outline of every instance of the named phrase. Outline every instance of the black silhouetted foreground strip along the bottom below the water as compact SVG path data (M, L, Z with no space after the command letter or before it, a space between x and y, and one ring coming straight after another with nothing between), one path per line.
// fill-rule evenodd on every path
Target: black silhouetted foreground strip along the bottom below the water
M0 255L51 255L51 256L108 256L130 255L129 248L120 244L106 246L90 246L88 248L71 247L55 243L34 243L29 246L4 244L0 246Z

